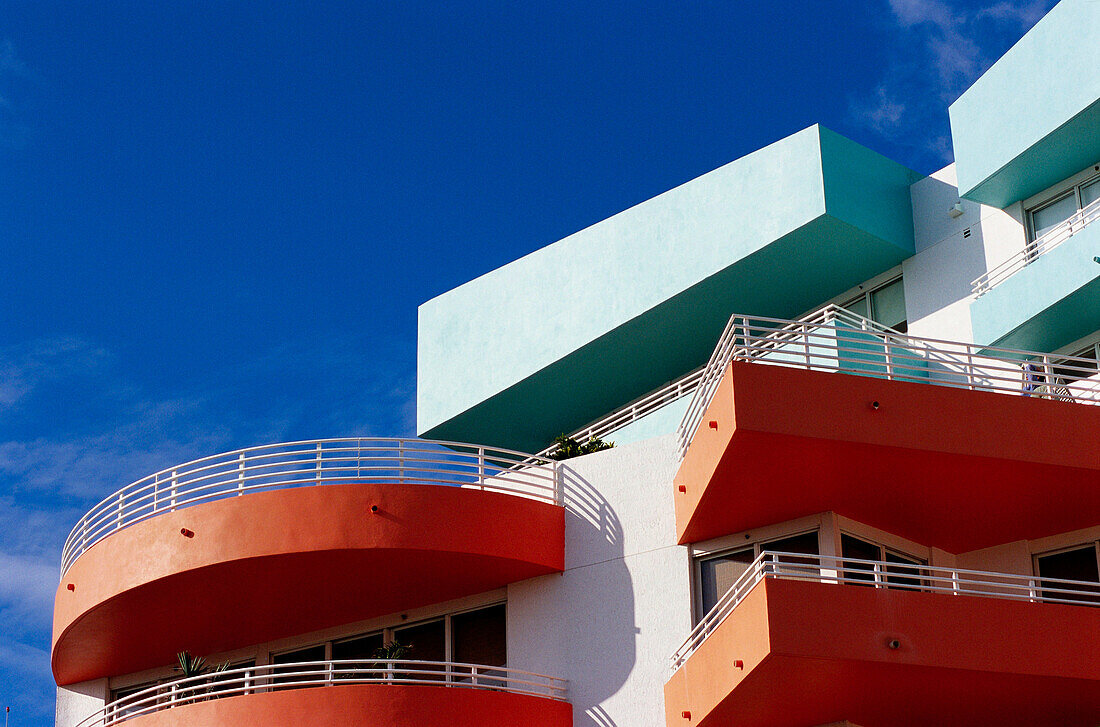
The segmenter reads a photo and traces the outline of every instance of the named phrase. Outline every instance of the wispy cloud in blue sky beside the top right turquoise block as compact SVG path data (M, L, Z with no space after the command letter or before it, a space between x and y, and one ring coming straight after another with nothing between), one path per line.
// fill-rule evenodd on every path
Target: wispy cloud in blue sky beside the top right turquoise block
M897 140L923 139L919 161L938 166L952 159L947 107L997 57L1038 21L1055 0L961 7L942 0L887 0L884 32L901 34L881 82L853 99L854 121Z

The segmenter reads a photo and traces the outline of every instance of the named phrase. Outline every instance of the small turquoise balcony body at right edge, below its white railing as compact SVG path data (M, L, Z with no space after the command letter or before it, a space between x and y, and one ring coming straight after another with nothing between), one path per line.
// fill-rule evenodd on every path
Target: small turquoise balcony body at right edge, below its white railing
M1100 222L970 304L974 340L1055 351L1100 330Z

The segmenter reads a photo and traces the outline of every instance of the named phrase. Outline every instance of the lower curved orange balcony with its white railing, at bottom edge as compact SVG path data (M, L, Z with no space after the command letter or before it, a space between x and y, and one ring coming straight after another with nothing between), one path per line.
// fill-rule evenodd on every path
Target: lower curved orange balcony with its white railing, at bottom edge
M564 680L450 662L322 661L179 679L103 706L78 727L570 727Z

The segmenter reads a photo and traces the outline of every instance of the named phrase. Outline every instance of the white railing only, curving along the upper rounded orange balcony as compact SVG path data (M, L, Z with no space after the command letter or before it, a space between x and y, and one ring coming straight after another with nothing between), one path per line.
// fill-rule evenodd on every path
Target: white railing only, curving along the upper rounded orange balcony
M558 463L524 452L419 439L266 444L168 467L108 496L66 539L62 575L96 542L163 513L265 489L371 482L458 485L562 504Z

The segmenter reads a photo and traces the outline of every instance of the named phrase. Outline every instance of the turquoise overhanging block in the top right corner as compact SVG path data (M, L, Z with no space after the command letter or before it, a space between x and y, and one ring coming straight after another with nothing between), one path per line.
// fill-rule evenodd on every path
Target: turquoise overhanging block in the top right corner
M1100 2L1059 2L950 121L959 192L1000 209L1100 162Z

